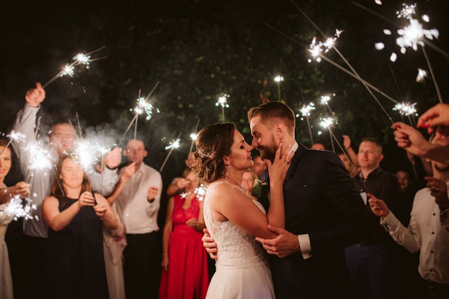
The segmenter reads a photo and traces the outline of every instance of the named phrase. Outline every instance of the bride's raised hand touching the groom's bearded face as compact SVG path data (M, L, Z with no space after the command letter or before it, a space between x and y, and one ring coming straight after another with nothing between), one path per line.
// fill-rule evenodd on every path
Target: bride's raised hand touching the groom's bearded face
M268 165L268 173L270 175L270 184L282 184L287 175L290 162L292 161L294 151L289 155L292 145L279 144L273 162L266 160Z

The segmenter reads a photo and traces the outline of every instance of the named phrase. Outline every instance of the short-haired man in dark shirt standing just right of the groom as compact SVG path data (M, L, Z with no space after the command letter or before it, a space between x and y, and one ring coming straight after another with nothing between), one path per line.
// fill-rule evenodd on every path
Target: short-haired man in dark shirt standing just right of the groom
M356 292L364 298L382 299L388 293L387 262L391 241L388 233L379 227L379 220L368 204L367 193L376 194L393 206L399 201L401 189L396 177L380 168L384 155L378 140L363 139L357 158L360 172L353 181L370 214L372 234L365 242L346 248L346 262Z

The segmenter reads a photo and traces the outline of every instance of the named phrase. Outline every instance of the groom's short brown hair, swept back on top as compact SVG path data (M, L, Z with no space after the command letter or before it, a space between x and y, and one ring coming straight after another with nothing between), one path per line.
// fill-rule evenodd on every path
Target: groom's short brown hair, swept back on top
M287 105L281 102L268 102L248 111L248 122L252 118L260 116L262 123L272 127L275 122L282 122L290 135L295 133L295 113Z

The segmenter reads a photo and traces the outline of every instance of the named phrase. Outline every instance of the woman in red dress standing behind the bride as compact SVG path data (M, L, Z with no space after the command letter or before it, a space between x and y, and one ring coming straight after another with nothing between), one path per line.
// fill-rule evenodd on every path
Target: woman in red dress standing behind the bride
M185 192L170 198L162 238L162 276L159 299L204 299L209 285L207 256L201 238L203 201L190 172Z

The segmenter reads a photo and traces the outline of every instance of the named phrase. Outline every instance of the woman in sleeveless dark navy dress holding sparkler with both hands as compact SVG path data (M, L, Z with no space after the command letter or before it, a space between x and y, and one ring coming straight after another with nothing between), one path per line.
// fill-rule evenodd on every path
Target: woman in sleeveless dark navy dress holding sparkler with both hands
M48 224L46 298L109 298L103 255L103 226L117 228L107 200L92 187L81 165L63 156L51 195L42 205ZM64 195L65 194L65 195Z

